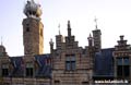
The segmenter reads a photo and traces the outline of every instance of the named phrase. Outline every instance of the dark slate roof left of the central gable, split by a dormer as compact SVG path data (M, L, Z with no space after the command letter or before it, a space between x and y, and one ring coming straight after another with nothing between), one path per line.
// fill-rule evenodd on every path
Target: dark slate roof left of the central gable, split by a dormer
M38 69L35 70L36 77L51 77L51 62L47 62L50 59L50 54L35 56L35 62L38 64ZM10 60L13 66L10 76L24 76L25 63L23 57L10 57Z

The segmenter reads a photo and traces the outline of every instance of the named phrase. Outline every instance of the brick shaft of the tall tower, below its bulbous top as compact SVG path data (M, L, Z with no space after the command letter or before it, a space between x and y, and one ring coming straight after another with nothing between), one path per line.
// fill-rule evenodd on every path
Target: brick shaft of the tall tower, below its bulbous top
M24 54L43 54L44 25L40 20L27 17L23 20Z

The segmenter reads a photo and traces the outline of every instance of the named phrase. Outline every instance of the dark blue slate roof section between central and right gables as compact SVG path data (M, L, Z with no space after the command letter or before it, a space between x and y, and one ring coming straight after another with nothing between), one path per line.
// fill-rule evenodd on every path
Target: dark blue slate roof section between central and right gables
M94 77L114 77L114 48L95 53Z

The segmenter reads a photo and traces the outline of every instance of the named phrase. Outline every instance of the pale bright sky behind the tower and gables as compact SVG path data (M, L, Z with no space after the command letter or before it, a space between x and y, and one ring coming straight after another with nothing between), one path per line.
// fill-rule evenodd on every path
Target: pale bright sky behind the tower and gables
M120 35L131 44L131 0L35 0L41 4L44 23L44 52L49 52L49 40L58 35L58 25L67 36L67 23L71 22L72 34L79 46L87 46L87 37L95 29L98 19L103 48L117 45ZM22 21L26 0L1 0L0 37L9 56L23 56ZM0 39L1 41L1 39Z

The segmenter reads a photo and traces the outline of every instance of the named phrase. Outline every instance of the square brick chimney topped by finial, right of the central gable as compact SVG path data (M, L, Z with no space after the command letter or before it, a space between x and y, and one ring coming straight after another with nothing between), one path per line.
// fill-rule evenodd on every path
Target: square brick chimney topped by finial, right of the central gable
M96 29L93 31L93 38L94 38L94 47L96 51L100 51L102 49L102 32L97 28L97 19L95 19Z

